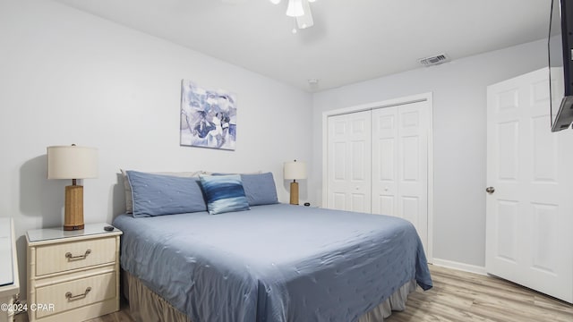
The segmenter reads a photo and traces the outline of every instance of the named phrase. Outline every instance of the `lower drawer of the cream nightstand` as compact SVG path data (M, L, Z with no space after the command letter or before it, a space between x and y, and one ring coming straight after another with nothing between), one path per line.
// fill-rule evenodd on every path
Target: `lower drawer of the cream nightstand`
M80 278L36 289L36 303L54 304L54 310L38 309L36 318L60 314L69 309L116 297L115 272Z

